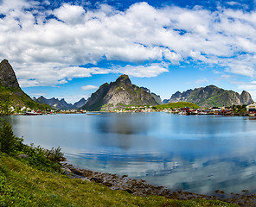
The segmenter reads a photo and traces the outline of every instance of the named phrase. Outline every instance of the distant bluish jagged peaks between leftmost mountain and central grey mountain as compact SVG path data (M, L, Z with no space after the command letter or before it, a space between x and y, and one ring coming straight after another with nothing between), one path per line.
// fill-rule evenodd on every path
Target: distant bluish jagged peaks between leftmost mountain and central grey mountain
M53 109L55 110L79 110L85 103L86 99L83 97L80 99L80 101L72 104L72 103L67 103L64 98L61 98L59 100L58 98L50 98L47 99L45 97L33 97L33 100L37 103L46 103L50 105Z

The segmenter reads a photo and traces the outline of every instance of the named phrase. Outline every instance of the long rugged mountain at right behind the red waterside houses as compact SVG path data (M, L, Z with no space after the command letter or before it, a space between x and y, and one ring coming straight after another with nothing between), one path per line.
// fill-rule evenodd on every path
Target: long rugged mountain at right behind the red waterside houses
M186 101L195 103L201 107L212 106L231 106L250 104L253 103L251 95L243 91L241 94L235 91L227 91L216 87L215 85L208 85L202 88L195 88L194 90L188 90L184 92L177 91L170 97L169 103L175 103L179 101Z

